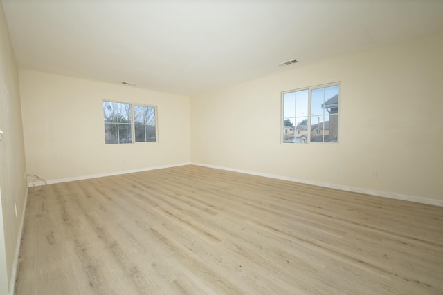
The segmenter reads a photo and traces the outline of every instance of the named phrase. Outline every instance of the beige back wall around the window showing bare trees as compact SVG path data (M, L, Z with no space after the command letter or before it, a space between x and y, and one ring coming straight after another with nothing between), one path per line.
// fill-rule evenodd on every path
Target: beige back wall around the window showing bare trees
M190 162L188 97L19 70L30 174L88 177ZM105 144L102 101L158 107L159 142Z

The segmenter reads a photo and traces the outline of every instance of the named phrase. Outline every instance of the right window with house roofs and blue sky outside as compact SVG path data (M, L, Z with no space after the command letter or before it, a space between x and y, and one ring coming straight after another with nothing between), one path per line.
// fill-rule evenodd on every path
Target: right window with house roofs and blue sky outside
M283 142L337 142L338 93L338 84L284 92Z

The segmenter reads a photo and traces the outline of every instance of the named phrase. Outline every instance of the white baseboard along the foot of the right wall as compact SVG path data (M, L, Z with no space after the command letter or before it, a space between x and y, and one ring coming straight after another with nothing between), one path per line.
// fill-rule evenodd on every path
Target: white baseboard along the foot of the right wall
M288 181L300 182L300 183L304 183L304 184L313 184L318 187L329 187L331 189L341 189L342 191L352 191L354 193L365 193L365 194L372 195L372 196L379 196L379 197L391 198L391 199L397 199L397 200L406 200L406 201L410 201L410 202L418 202L418 203L422 203L422 204L431 204L431 205L443 207L443 200L435 200L435 199L422 198L422 197L417 197L417 196L409 196L409 195L403 195L401 193L389 193L387 191L376 191L373 189L362 189L360 187L348 187L348 186L344 186L341 184L330 184L330 183L326 183L326 182L302 180L302 179L290 178L290 177L282 176L282 175L247 171L247 170L242 170L242 169L228 168L228 167L224 167L224 166L215 166L215 165L208 165L208 164L195 163L195 162L192 162L191 164L197 165L197 166L204 166L204 167L208 167L208 168L221 169L221 170L226 170L226 171L233 171L233 172L257 175L257 176L263 176L266 178L275 178L275 179L279 179L279 180L288 180Z

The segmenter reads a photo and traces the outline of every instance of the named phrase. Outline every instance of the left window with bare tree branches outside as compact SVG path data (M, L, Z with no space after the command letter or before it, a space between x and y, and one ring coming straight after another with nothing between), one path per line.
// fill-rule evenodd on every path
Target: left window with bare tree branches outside
M156 142L156 108L103 102L106 144Z

